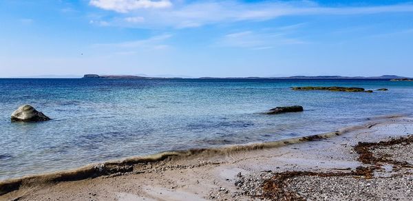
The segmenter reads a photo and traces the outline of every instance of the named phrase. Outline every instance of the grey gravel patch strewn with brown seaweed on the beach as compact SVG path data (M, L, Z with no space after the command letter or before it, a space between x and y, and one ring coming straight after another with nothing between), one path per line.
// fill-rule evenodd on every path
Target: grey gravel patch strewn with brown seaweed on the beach
M407 136L368 143L372 161L380 163L357 169L370 168L371 175L358 175L354 170L261 172L239 175L235 185L241 195L256 200L412 200L412 141L413 136Z

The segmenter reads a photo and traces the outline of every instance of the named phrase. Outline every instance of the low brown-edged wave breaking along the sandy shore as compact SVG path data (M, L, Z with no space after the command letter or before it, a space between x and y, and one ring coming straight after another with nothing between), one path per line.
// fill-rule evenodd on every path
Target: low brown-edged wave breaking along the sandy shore
M54 184L59 182L70 182L79 180L88 180L101 177L122 176L130 173L136 173L147 170L149 165L160 167L167 165L169 161L173 160L176 163L185 163L194 158L211 160L213 158L220 158L222 156L229 156L233 154L249 153L251 151L265 151L269 149L277 149L279 147L287 147L288 145L306 144L301 142L311 142L324 140L333 136L341 136L362 129L371 129L380 123L386 123L394 119L405 118L401 116L381 116L376 118L369 118L370 123L364 125L356 125L339 129L335 132L325 134L318 134L313 136L288 138L286 140L277 140L272 142L252 143L246 145L229 145L220 148L209 149L189 149L187 151L165 151L159 154L153 154L142 157L125 158L123 160L111 160L103 163L86 165L78 169L67 171L58 171L55 173L38 174L34 176L25 176L22 178L15 178L0 181L0 195L17 191L21 188L30 188L43 186L47 184ZM205 164L204 164L205 165ZM208 164L207 164L208 165ZM201 165L203 166L203 165Z

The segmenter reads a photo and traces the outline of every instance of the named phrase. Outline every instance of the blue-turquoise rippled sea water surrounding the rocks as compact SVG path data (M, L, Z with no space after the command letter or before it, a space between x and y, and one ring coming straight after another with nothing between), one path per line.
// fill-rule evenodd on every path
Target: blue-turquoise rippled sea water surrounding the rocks
M344 86L388 92L289 89ZM10 123L28 103L53 120ZM413 82L0 79L0 180L159 151L308 136L413 113ZM304 112L266 110L302 105Z

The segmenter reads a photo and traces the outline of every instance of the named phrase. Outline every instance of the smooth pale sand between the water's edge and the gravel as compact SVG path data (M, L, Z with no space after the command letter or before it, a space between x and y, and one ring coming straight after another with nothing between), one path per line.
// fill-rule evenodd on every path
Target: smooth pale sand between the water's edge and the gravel
M374 120L370 125L324 140L249 151L211 151L185 158L169 157L139 165L133 172L118 176L34 186L23 184L16 191L1 195L0 200L251 200L234 184L239 180L239 173L248 176L261 171L354 170L363 166L352 147L358 142L377 142L409 134L413 134L412 118ZM411 152L403 158L412 161ZM412 173L409 169L403 172ZM403 198L405 196L401 196L401 200Z

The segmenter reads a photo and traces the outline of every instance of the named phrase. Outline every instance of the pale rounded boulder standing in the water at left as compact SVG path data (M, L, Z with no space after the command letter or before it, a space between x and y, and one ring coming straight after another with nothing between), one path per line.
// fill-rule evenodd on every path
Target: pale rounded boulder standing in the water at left
M37 111L31 105L23 105L13 112L12 121L36 122L43 120L50 120L49 117Z

